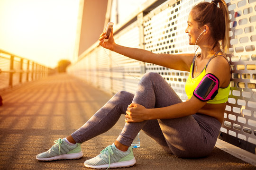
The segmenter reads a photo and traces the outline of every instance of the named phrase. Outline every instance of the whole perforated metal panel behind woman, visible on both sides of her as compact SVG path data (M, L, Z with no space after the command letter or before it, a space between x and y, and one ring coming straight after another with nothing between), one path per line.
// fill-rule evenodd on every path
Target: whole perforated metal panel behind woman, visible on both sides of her
M198 2L196 2L198 3ZM225 121L221 131L256 144L256 0L232 0L230 11L229 57L233 65L233 80ZM191 52L184 34L193 0L168 1L145 17L145 49L156 53ZM165 18L165 19L161 19ZM146 64L147 71L161 74L182 99L186 99L184 85L188 73L154 64Z

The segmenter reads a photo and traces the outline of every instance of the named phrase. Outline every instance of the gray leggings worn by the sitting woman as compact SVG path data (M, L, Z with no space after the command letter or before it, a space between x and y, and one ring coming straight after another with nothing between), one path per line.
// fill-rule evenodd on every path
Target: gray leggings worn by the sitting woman
M135 95L125 91L116 93L72 134L75 142L82 143L108 131L121 114L126 114L131 102L146 108L161 108L182 101L162 76L146 73L139 82ZM142 129L168 153L183 158L196 158L207 156L212 151L220 127L221 123L217 119L202 114L177 119L145 120L126 123L117 141L129 146Z

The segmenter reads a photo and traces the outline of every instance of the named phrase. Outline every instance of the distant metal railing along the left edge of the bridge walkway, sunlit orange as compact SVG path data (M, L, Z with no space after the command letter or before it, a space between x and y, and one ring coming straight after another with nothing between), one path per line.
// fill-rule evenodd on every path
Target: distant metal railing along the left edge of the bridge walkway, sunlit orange
M0 90L46 77L52 71L35 61L0 50Z

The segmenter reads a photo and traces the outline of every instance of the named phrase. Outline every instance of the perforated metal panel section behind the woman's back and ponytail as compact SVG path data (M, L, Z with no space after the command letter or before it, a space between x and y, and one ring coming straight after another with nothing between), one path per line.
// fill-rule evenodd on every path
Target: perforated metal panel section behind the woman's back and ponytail
M256 144L256 0L231 0L229 11L233 79L221 131Z

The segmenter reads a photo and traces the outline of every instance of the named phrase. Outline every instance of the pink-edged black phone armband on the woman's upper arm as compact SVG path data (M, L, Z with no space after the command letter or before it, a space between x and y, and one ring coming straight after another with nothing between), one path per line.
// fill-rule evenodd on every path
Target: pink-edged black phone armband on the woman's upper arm
M218 93L219 79L213 74L206 74L199 85L194 90L193 94L199 100L205 102L212 100Z

